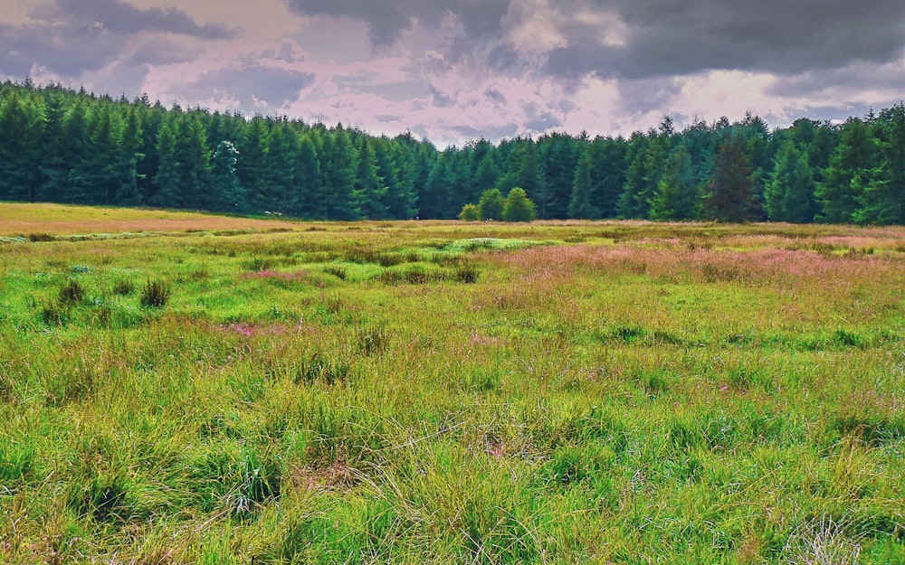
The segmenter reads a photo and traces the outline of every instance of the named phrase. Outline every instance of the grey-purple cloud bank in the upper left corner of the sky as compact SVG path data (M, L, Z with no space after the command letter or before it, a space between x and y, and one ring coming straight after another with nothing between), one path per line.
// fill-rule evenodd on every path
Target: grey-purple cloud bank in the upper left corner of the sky
M59 0L29 14L33 23L0 24L0 73L24 76L33 66L77 78L116 61L138 32L173 33L200 39L227 39L235 32L198 25L176 10L139 10L116 0ZM187 61L186 46L160 40L131 57L133 64Z

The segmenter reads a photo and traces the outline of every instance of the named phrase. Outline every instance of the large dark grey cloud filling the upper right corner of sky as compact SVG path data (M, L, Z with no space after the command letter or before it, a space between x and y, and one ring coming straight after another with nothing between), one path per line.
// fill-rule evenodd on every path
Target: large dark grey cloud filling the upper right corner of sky
M710 70L794 74L886 62L905 46L900 0L612 0L594 2L627 26L623 45L570 37L555 73L637 78Z

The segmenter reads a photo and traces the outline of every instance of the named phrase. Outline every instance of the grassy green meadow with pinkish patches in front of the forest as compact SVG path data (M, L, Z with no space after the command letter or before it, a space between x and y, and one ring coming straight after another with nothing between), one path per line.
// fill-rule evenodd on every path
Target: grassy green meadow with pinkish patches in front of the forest
M905 228L0 204L0 562L905 562Z

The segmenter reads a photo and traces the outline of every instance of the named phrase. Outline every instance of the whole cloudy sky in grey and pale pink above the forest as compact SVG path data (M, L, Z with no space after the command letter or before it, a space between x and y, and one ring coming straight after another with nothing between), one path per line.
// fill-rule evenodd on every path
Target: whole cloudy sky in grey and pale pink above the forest
M0 78L438 145L905 99L902 0L0 0Z

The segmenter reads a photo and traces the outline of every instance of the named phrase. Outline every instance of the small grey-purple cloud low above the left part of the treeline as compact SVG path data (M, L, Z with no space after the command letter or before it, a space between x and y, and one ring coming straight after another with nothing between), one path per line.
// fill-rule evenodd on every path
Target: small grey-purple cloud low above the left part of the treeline
M205 99L225 92L238 99L243 109L255 111L255 99L271 106L282 106L297 99L299 92L310 86L314 79L315 76L307 72L248 65L207 72L178 94L185 95L186 99Z

